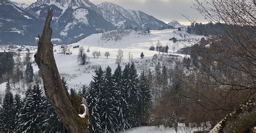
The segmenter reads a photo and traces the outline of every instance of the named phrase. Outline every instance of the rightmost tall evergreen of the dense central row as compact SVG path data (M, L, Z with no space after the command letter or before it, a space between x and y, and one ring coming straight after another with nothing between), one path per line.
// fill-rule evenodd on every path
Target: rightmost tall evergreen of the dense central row
M139 77L139 90L139 122L141 125L148 125L152 96L150 93L149 80L147 80L144 70Z

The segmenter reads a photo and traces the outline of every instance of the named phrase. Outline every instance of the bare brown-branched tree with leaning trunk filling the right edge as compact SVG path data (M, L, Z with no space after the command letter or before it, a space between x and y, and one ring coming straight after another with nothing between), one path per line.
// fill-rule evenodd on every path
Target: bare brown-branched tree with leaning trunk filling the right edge
M210 95L205 95L191 85L187 86L208 101L205 103L215 105L210 107L201 104L201 106L205 106L208 110L219 109L231 112L215 126L212 132L247 132L256 120L255 3L240 0L211 0L205 4L198 0L195 2L194 7L207 20L219 27L208 29L195 26L205 35L209 44L208 47L199 46L200 51L196 57L200 66L196 74L202 77L199 83L205 88L218 92L221 98L215 101ZM192 19L190 20L193 22ZM231 97L239 97L239 93L245 94L243 99L240 99L244 101L242 104L232 105L232 102L229 102L229 107L221 104Z

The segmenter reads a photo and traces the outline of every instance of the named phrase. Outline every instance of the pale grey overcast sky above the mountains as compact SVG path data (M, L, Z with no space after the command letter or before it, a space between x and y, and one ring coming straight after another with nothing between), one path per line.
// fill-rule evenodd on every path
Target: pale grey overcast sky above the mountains
M31 4L36 0L11 0L19 3ZM173 19L181 24L190 24L181 14L189 16L198 22L205 22L204 17L198 11L191 8L194 0L90 0L94 4L112 2L124 9L141 10L147 14L169 23Z

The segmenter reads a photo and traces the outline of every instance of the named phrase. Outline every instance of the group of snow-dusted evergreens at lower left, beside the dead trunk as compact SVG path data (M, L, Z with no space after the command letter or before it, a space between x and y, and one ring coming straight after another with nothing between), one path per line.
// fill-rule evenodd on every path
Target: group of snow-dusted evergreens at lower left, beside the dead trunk
M67 88L64 78L63 84ZM19 94L14 97L11 90L8 80L0 112L1 132L67 132L41 87L28 88L24 99Z

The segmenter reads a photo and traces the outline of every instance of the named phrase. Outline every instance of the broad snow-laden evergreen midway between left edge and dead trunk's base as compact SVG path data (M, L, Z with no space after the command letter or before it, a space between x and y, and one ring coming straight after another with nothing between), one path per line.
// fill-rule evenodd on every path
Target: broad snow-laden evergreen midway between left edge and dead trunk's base
M42 92L38 85L26 91L24 102L16 131L42 132Z

